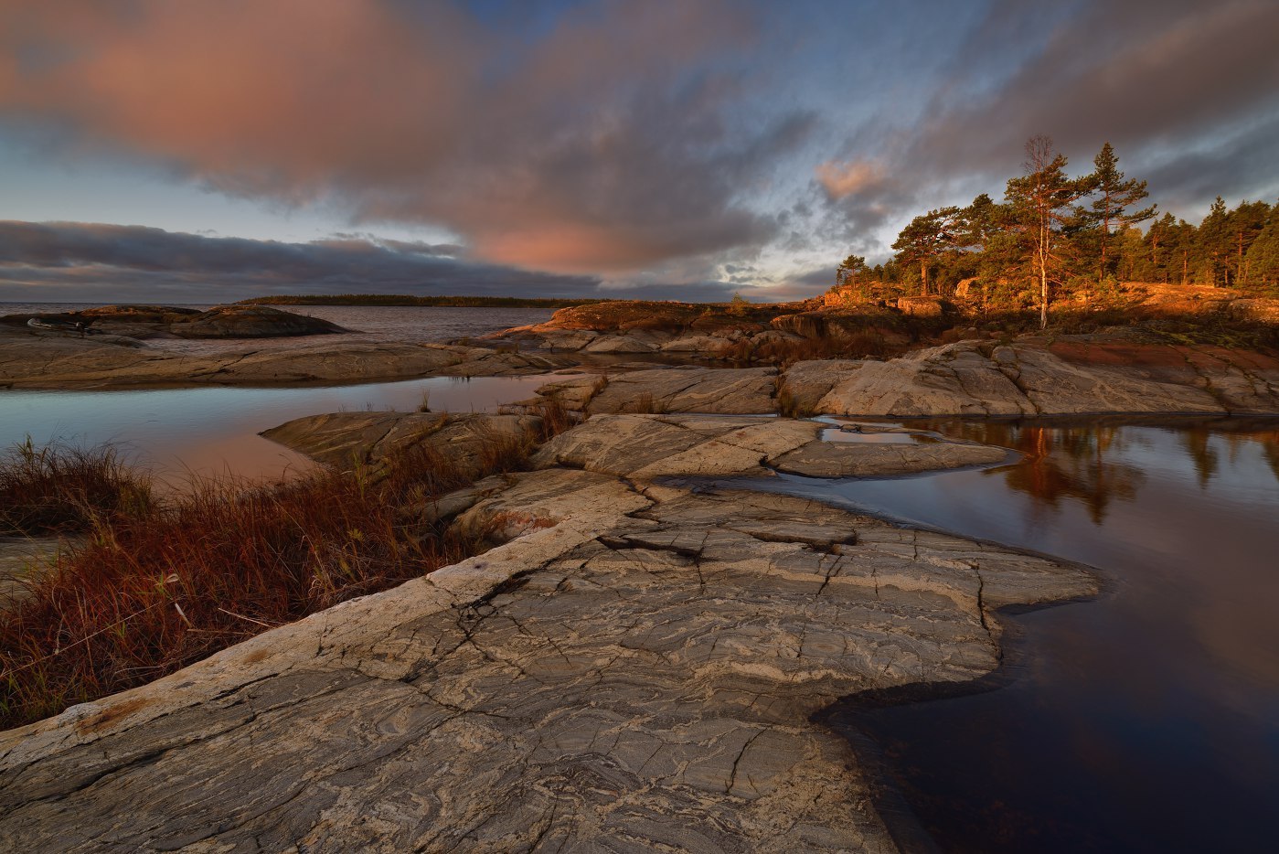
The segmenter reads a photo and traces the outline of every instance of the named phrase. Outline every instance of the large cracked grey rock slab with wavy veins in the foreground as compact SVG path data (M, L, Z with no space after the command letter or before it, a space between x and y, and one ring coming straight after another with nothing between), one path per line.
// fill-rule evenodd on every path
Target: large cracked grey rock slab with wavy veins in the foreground
M756 456L810 427L744 421ZM490 481L457 523L494 550L0 734L0 849L889 851L810 716L976 679L993 609L1095 592L806 499Z

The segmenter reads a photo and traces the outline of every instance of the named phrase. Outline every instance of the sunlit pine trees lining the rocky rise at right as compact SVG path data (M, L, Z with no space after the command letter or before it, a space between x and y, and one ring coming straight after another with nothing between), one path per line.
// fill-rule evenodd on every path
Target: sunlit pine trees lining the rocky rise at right
M1111 299L1120 281L1279 297L1279 203L1243 201L1230 210L1219 196L1196 226L1147 205L1146 182L1119 169L1109 142L1092 165L1072 178L1053 141L1032 137L1001 202L982 193L967 207L916 216L886 263L844 258L836 288L949 297L964 284L976 294L959 295L980 295L993 308L1037 306L1041 325L1053 299Z

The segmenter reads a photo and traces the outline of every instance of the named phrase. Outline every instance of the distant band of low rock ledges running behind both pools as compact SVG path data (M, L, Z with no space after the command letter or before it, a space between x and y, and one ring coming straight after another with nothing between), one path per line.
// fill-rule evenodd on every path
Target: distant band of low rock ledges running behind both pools
M203 355L146 348L132 338L81 339L0 323L0 387L335 384L587 367L591 373L549 382L540 394L588 414L1279 414L1279 353L1264 348L1160 343L1126 330L999 339L973 334L897 358L796 358L781 366L741 367L703 357L743 336L752 346L813 335L840 340L853 334L839 331L848 318L789 311L765 329L752 320L707 317L679 303L663 308L668 314L682 311L678 317L654 316L651 304L625 306L565 309L549 323L472 344L326 341ZM611 313L596 316L606 311ZM693 348L689 336L705 340ZM688 346L669 346L675 341ZM597 363L641 353L668 359L683 354L686 364L631 362L605 369Z

